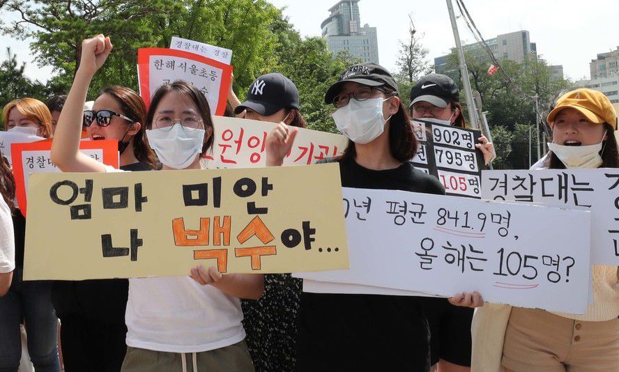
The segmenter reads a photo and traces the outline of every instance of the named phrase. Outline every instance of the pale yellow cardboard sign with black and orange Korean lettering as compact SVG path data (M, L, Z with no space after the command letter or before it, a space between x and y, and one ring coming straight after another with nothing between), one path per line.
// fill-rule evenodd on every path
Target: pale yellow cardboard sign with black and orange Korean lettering
M24 279L349 268L338 164L38 173Z

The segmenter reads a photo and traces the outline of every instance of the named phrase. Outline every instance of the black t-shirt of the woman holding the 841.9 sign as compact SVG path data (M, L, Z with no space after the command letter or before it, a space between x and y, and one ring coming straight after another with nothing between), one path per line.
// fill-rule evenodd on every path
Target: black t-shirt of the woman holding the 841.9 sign
M437 178L408 162L374 171L349 159L339 162L339 171L343 187L445 194ZM429 332L418 298L303 293L296 366L298 371L427 371Z

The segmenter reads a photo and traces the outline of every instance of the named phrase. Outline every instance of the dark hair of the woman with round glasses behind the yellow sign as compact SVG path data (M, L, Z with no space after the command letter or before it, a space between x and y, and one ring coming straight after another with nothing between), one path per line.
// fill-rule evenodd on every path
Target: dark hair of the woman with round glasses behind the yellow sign
M199 114L202 118L202 123L204 123L204 139L206 139L202 145L200 155L204 157L213 146L213 118L211 118L211 107L208 106L208 101L204 97L204 94L202 94L198 88L192 86L192 84L184 82L183 80L177 80L171 84L160 86L157 91L155 91L155 94L153 94L153 98L151 98L151 107L148 107L148 113L146 114L146 127L148 127L148 129L153 127L153 118L155 118L155 112L157 111L159 102L170 92L176 92L180 95L187 96L196 104L198 111L200 111Z

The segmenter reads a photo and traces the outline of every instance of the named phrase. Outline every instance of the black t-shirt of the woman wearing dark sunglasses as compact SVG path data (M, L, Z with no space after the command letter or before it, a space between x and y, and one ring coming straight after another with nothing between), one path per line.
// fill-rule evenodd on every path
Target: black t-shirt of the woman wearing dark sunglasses
M121 166L123 171L150 171L148 165L137 162ZM129 296L127 279L96 279L55 281L52 303L56 316L83 316L110 324L125 324L125 309Z

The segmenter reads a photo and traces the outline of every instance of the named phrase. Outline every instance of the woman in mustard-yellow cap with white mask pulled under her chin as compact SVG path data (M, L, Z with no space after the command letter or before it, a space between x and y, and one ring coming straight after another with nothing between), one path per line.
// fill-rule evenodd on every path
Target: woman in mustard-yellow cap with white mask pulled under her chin
M548 114L547 169L617 168L617 114L598 91L576 89ZM560 229L561 226L555 226ZM616 266L593 265L593 304L584 315L489 304L473 319L475 371L619 371Z

